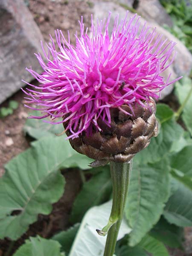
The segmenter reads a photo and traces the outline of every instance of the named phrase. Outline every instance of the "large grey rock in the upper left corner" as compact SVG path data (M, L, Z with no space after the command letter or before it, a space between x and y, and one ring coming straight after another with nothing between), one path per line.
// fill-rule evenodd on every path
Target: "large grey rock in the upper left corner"
M42 72L34 52L43 37L23 0L0 0L0 103L29 82L25 67Z

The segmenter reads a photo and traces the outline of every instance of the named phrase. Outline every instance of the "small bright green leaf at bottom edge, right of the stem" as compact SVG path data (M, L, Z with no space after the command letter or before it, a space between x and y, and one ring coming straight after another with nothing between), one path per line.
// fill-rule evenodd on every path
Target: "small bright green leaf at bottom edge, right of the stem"
M146 235L140 241L139 246L148 253L151 253L152 256L169 256L165 245L152 236Z

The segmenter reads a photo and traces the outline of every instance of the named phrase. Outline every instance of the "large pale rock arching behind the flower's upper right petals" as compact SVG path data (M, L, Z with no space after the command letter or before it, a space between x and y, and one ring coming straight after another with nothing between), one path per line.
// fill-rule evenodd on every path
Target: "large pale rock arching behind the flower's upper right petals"
M93 9L93 11L94 11L93 17L95 18L95 21L97 18L99 18L99 20L100 20L100 19L103 19L104 17L108 17L109 10L112 12L111 13L111 22L109 25L109 32L112 32L113 23L114 23L116 15L119 14L119 20L121 20L125 17L126 10L124 8L122 8L121 6L119 6L119 4L116 4L116 3L106 3L105 1L95 2L94 9ZM129 12L128 18L133 15L134 15L133 13ZM145 22L145 20L141 17L140 18L140 29L138 31L138 34L140 33L140 31L144 25L144 22ZM157 35L162 34L163 35L162 39L168 38L168 42L169 41L177 42L177 45L175 47L175 51L177 52L175 60L172 63L172 65L167 70L165 70L164 73L162 73L162 76L167 78L169 76L169 74L171 73L171 77L170 77L169 81L176 79L178 76L185 76L185 75L188 76L192 69L192 55L188 51L188 49L183 45L183 43L181 43L177 38L175 38L175 36L173 36L171 33L169 33L166 29L163 29L162 27L160 27L157 23L148 22L148 25L151 26L151 30L154 27L156 27L157 34L156 34L156 37L154 38L154 41L156 40ZM152 44L154 43L154 41L152 42ZM163 99L165 96L169 95L169 93L171 93L172 89L173 89L173 85L166 87L161 92L161 99Z

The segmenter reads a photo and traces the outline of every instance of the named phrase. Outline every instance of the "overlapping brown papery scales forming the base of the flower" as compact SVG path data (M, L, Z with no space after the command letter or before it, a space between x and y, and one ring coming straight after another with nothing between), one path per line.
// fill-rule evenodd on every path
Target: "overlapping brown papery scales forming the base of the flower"
M122 106L122 109L132 113L127 105ZM158 133L156 104L153 99L150 107L134 105L132 109L134 115L127 115L117 108L111 109L111 127L99 119L101 132L93 132L91 137L82 134L79 138L70 139L70 144L79 153L95 159L90 164L92 167L105 165L109 161L130 161L137 152L146 148L151 137L156 137ZM70 136L69 131L66 133Z

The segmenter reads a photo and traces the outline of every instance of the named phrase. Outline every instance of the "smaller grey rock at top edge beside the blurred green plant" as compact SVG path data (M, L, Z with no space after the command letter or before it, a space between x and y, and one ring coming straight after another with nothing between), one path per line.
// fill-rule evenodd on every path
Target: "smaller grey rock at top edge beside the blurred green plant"
M160 4L159 0L140 0L137 12L145 19L151 22L156 22L159 25L166 24L173 26L171 17Z

